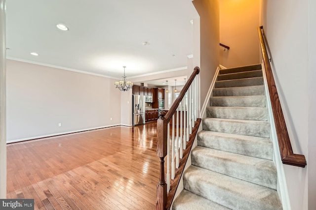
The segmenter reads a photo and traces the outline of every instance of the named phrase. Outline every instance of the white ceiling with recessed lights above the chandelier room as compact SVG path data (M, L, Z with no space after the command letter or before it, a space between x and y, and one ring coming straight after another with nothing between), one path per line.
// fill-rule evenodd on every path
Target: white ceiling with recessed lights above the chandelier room
M8 0L7 58L113 78L186 68L197 17L192 0Z

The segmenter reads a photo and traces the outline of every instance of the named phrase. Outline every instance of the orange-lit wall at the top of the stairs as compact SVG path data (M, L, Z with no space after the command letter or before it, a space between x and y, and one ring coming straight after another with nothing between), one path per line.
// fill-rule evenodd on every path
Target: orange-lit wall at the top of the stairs
M236 67L260 63L259 0L220 0L220 64ZM257 46L257 47L256 47Z

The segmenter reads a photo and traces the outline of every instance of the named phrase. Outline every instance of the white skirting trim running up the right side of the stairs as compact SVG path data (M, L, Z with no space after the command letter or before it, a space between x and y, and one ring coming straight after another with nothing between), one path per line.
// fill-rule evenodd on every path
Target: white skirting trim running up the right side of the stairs
M263 80L265 85L265 94L267 99L267 108L269 112L269 121L270 121L270 127L271 127L271 141L273 142L273 151L274 151L274 162L276 164L276 171L277 171L277 191L281 199L283 210L291 210L291 204L290 204L290 197L288 195L288 189L286 184L286 178L284 174L284 168L283 163L280 156L280 150L278 146L277 136L276 136L276 125L273 117L272 112L272 105L270 100L270 94L268 89L268 83L267 83L267 76L265 72L265 66L262 63L262 71L263 71Z

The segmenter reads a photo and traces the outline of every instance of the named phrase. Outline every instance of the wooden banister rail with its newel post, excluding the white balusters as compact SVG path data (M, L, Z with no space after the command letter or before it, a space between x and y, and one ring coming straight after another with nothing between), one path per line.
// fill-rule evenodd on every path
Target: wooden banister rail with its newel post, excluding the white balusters
M156 210L166 210L167 204L167 184L164 178L164 158L167 155L167 133L168 133L168 123L172 116L175 114L180 102L185 97L186 92L189 90L192 82L194 81L196 75L199 73L199 67L195 67L193 73L188 79L187 83L180 92L178 98L173 102L171 108L166 114L164 111L159 113L160 117L157 120L157 154L160 158L160 170L159 170L159 182L157 185L157 203Z

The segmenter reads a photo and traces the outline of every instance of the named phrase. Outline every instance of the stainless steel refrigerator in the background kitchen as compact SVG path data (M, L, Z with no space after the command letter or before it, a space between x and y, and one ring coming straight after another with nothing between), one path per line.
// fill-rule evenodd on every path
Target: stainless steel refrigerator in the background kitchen
M145 96L133 95L133 125L145 124Z

